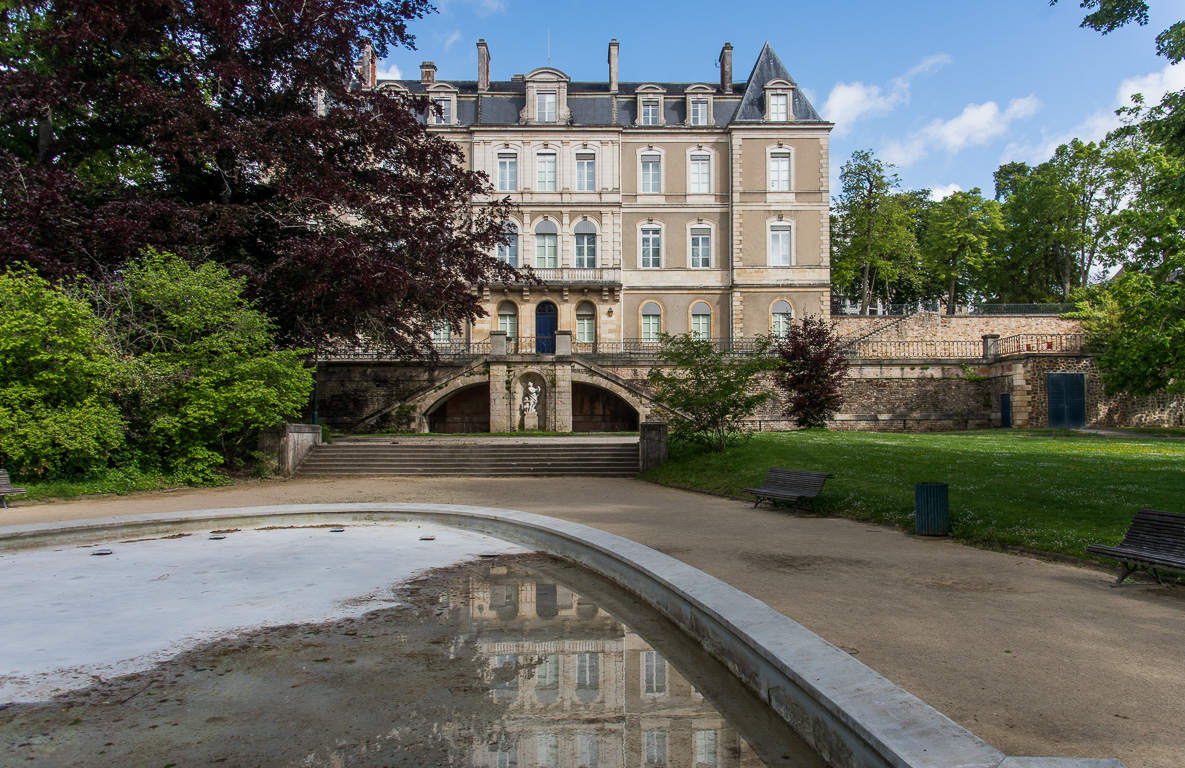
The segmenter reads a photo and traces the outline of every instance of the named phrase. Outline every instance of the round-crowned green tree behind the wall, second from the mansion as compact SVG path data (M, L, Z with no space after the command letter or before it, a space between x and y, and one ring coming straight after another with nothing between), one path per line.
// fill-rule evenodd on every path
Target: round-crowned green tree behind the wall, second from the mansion
M953 192L930 210L924 254L933 274L947 287L947 314L979 287L991 243L1004 230L1000 204L986 200L979 187Z

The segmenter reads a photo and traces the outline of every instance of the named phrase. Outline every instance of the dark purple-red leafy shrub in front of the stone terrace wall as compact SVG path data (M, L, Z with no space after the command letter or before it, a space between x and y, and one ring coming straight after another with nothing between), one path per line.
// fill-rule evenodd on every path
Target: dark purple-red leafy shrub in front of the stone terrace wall
M786 337L777 340L774 354L774 380L786 392L786 410L794 423L826 427L844 404L840 390L847 378L847 356L834 324L809 315L792 322Z

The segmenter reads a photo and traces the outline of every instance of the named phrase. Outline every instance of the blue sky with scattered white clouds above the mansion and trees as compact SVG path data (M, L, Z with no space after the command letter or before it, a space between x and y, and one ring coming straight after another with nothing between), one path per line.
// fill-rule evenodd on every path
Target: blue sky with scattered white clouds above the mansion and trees
M743 81L768 40L835 122L833 194L843 162L872 149L905 188L991 196L1001 162L1040 162L1071 137L1102 137L1132 92L1185 89L1185 65L1167 66L1153 43L1185 18L1185 0L1153 0L1148 26L1106 37L1078 26L1083 13L1077 0L438 0L410 26L417 50L392 51L380 77L418 77L431 60L441 81L476 79L485 38L491 78L510 79L547 64L550 37L551 65L577 81L608 79L610 38L622 81L718 82L725 41Z

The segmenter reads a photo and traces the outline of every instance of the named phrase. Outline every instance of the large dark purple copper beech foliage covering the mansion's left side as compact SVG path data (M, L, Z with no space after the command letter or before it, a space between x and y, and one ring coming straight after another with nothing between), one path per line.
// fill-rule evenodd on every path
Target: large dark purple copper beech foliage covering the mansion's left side
M0 265L109 279L148 247L216 260L288 343L424 348L517 275L507 200L351 87L424 0L0 0Z

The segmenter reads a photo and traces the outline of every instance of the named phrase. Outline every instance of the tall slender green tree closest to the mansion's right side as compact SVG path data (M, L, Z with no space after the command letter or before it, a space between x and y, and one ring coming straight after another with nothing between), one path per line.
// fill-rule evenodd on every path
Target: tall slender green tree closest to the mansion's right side
M858 151L844 164L832 217L832 282L852 290L867 314L877 281L914 282L917 238L911 212L916 199L903 197L893 166Z

